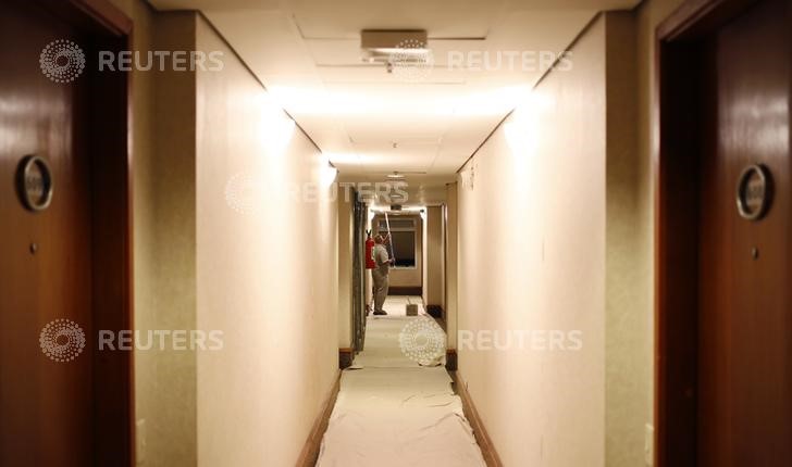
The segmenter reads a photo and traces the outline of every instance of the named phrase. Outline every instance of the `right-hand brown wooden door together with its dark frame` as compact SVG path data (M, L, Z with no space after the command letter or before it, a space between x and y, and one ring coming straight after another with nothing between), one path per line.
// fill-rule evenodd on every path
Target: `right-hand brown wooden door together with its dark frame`
M791 11L689 0L657 29L658 466L792 465Z

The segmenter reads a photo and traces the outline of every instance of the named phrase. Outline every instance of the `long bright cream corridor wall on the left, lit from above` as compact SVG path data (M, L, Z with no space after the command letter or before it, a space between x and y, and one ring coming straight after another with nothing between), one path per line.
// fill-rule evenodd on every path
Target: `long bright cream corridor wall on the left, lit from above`
M221 73L197 73L197 323L225 336L198 353L198 462L294 465L338 371L336 201L318 149L197 26L197 49L225 56ZM263 184L260 210L226 204L240 173ZM284 184L318 194L293 199Z

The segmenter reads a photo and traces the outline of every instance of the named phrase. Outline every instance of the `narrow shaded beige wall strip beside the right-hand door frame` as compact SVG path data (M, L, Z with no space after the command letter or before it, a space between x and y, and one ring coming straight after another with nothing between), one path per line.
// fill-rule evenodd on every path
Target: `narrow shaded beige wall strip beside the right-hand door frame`
M608 466L644 465L654 420L654 35L682 1L647 0L607 16Z

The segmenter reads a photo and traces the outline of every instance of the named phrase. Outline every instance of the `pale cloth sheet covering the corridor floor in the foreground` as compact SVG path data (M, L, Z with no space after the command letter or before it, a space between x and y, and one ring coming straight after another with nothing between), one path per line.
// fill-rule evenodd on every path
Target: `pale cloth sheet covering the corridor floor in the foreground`
M485 466L445 367L401 353L398 333L410 319L421 317L369 317L362 369L342 375L318 466Z

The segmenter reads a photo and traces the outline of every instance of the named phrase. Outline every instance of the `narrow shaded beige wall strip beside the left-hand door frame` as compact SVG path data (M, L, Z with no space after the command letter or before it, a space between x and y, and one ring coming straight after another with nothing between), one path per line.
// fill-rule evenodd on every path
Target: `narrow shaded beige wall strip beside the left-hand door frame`
M134 21L136 50L191 49L186 15L139 0L111 0ZM134 300L136 329L196 326L195 121L188 73L132 72ZM194 99L193 99L194 102ZM135 354L138 464L196 465L196 362L181 351Z

